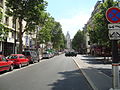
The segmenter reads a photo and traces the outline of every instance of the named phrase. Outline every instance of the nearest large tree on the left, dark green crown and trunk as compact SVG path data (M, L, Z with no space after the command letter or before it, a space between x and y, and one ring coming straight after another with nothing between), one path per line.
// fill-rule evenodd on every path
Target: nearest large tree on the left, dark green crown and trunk
M41 23L41 16L47 6L44 0L6 0L7 14L19 19L19 53L22 52L22 36L23 30L22 21L27 22L26 27L34 29L35 25ZM31 30L31 29L30 29Z

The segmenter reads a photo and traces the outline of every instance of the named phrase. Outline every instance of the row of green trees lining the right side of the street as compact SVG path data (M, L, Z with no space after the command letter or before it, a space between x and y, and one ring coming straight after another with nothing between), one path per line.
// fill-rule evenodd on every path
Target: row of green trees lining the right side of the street
M91 16L90 24L87 24L87 32L89 34L90 43L97 45L111 46L111 41L108 36L108 24L106 19L106 11L110 7L117 7L118 2L113 0L106 0L98 6L98 12ZM84 31L78 31L72 41L73 48L76 50L81 49L85 44Z

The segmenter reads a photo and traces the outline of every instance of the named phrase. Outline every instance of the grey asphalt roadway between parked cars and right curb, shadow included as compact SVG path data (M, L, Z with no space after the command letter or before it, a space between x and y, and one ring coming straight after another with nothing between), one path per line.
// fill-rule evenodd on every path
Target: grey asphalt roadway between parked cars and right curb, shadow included
M0 90L92 90L71 57L64 55L0 75Z

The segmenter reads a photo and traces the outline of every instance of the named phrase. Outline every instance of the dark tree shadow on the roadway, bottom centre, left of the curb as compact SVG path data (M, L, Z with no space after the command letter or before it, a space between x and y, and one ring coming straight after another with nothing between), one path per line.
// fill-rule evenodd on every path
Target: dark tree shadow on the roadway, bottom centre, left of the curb
M52 90L92 90L80 70L59 72L62 80L49 84Z

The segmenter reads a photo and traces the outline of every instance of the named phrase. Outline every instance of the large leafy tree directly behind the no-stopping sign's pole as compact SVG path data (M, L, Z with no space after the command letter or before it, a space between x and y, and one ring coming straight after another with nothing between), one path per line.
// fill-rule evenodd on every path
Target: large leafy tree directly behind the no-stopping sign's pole
M90 41L98 45L110 45L108 37L108 24L105 13L108 8L115 6L116 3L113 0L106 0L100 4L99 11L92 17L92 26L88 25L88 32L90 35Z

